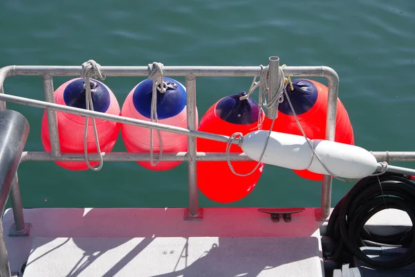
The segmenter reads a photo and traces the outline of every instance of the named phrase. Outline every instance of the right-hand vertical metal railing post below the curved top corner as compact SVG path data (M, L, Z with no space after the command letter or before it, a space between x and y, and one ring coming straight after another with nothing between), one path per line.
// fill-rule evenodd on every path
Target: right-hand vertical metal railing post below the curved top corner
M324 72L323 75L329 80L329 95L327 96L327 115L326 115L326 140L334 141L335 139L335 116L337 113L337 102L339 96L339 77L333 69ZM322 204L318 220L325 220L331 211L331 188L333 179L330 175L324 175L322 181Z

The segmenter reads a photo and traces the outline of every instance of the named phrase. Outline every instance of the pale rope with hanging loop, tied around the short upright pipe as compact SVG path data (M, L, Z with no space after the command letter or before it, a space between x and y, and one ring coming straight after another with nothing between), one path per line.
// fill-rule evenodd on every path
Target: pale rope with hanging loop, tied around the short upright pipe
M283 89L284 89L284 80L285 80L284 79L284 71L282 70L282 68L279 68L279 85L277 87L277 93L275 93L275 95L273 96L273 98L270 100L270 102L268 104L266 104L266 103L264 104L263 103L263 100L262 100L262 97L263 96L266 96L266 94L268 94L268 80L267 80L268 79L267 78L267 76L268 76L268 66L265 66L265 67L263 65L260 65L260 66L261 66L261 73L260 73L260 76L259 76L259 82L256 82L257 76L255 76L254 80L252 81L250 90L248 91L248 94L246 96L241 96L239 98L239 100L246 100L246 99L248 99L249 96L250 96L250 94L253 91L255 91L255 89L258 87L258 84L259 84L259 101L258 101L258 105L259 105L259 118L258 118L258 129L260 129L260 127L262 125L262 122L261 122L262 107L270 107L277 100L279 100L281 98L282 92L283 92ZM274 123L275 123L275 118L273 119L273 122L271 123L270 130L268 132L268 136L266 137L265 145L264 145L264 148L262 149L261 156L259 157L259 161L257 163L257 166L255 166L255 168L253 170L251 170L250 172L248 172L246 174L240 174L240 173L235 172L235 170L234 170L234 168L232 166L232 163L230 162L230 157L229 157L229 155L230 155L230 148L232 146L232 141L234 141L235 139L238 139L239 140L239 144L240 144L241 141L243 140L243 134L237 132L237 133L232 134L232 136L229 137L228 143L226 143L226 150L225 150L225 153L226 153L226 161L228 162L228 166L230 168L230 171L232 171L232 173L234 175L237 175L237 176L240 176L240 177L249 176L252 173L254 173L255 170L257 170L257 168L259 167L259 165L261 165L261 160L264 157L264 154L265 154L265 151L266 151L266 147L268 145L268 141L270 139L270 135L271 135L271 132L273 130Z

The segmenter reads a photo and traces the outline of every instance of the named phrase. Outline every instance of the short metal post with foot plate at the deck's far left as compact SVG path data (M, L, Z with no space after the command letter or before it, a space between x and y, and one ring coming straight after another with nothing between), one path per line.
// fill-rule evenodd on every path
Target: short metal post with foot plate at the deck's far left
M14 237L28 236L30 233L30 223L24 223L23 207L21 205L19 178L17 173L13 179L12 189L10 190L10 199L12 200L13 217L15 224L12 225L9 235Z

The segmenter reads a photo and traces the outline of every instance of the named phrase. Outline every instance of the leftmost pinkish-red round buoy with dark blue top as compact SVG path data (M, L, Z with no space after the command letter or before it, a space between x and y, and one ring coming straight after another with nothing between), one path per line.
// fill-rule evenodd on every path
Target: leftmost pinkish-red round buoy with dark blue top
M116 96L104 83L91 79L91 96L94 111L105 114L120 115L120 106ZM65 82L55 91L55 102L86 109L84 79L76 78ZM84 153L85 117L57 111L57 126L59 129L59 143L62 153ZM95 119L98 132L98 141L101 152L111 152L118 138L120 124L102 119ZM88 153L97 153L93 123L88 120L87 150ZM46 110L42 118L42 143L44 150L50 152L50 136ZM68 170L87 170L89 167L84 161L55 161L58 166ZM91 166L98 166L99 161L91 161Z

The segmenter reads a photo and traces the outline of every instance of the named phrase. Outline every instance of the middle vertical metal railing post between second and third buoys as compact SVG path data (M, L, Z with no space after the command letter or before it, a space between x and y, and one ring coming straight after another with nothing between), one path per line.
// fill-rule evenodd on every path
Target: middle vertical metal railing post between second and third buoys
M187 128L197 129L199 118L196 110L196 78L189 74L186 76L187 93ZM202 220L201 209L198 205L197 170L196 170L196 137L187 136L188 179L189 179L189 208L185 209L185 220Z

